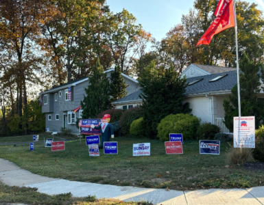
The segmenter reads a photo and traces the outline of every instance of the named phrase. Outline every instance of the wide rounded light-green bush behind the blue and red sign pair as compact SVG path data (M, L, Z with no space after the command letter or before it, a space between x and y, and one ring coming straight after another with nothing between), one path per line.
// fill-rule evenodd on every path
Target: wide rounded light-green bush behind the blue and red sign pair
M158 138L169 141L169 133L182 133L184 139L193 139L197 128L200 126L200 118L189 114L167 115L158 124Z

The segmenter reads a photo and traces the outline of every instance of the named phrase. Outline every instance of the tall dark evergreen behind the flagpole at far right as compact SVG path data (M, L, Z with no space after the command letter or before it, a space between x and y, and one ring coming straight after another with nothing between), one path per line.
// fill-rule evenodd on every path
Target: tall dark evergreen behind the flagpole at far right
M255 116L257 128L264 120L264 102L257 98L257 94L261 91L261 77L258 72L261 68L263 69L263 64L255 65L244 53L239 68L241 69L239 74L241 115ZM237 85L232 88L231 92L229 100L224 100L224 124L230 132L233 131L233 118L239 115Z

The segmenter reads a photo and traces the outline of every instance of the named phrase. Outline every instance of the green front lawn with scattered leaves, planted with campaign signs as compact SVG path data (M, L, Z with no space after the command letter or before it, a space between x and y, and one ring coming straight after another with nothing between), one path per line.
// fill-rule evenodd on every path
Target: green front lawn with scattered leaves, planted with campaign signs
M85 140L66 141L66 150L51 152L36 143L0 146L0 157L34 174L81 182L132 185L136 187L193 190L204 188L256 187L264 173L242 166L225 166L228 143L220 155L199 154L198 141L185 141L184 154L165 154L163 141L117 137L118 155L89 156ZM132 156L133 143L151 143L151 156Z

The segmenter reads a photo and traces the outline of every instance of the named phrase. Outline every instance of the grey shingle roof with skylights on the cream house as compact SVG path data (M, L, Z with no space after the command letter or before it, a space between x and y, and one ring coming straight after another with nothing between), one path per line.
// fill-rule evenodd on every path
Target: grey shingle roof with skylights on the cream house
M227 74L226 77L223 77L217 81L209 82L215 77L219 77L221 74ZM197 79L202 79L201 81L198 81L197 83L194 83L193 85L188 85L186 88L186 92L184 93L184 96L188 96L191 94L202 94L202 93L208 93L208 92L217 92L222 90L228 90L230 91L232 87L234 87L237 84L237 72L236 70L232 70L229 72L221 72L217 74L208 74L200 77L193 77L187 79L187 82L191 83L193 81L196 81ZM113 105L115 104L123 104L128 102L141 102L141 98L139 98L139 94L141 94L141 90L138 90L128 96L125 96L124 98L121 98L115 102L112 102Z

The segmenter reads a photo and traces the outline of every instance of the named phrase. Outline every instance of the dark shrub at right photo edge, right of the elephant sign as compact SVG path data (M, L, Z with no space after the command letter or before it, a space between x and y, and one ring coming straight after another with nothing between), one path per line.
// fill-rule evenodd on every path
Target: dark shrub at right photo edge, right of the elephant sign
M264 125L259 126L259 130L255 131L255 148L252 156L254 159L264 162Z

